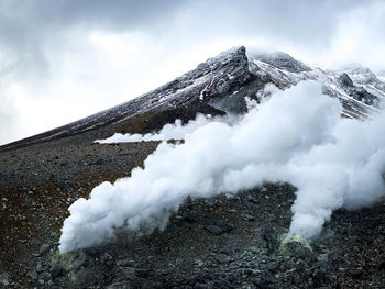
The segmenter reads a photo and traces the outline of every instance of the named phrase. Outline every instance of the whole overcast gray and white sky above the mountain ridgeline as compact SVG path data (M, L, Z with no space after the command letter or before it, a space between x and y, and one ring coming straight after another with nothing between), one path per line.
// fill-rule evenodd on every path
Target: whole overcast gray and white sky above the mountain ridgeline
M385 71L385 1L0 0L0 144L130 100L239 45Z

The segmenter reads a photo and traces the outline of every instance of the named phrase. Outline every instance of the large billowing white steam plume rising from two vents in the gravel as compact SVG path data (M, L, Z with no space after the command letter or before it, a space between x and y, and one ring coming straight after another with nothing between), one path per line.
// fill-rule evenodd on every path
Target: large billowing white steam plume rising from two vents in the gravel
M122 225L163 229L187 196L235 193L264 181L298 188L289 234L310 240L333 210L384 197L385 113L361 122L341 119L341 110L321 85L302 82L275 91L237 123L213 120L185 133L184 144L164 142L144 169L99 185L69 208L59 249L98 244Z

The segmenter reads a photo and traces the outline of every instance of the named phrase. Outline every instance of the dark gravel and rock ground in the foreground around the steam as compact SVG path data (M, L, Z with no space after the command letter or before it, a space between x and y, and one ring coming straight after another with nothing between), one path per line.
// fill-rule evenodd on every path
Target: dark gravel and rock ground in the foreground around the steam
M186 200L164 232L120 231L58 255L67 208L129 176L156 142L92 144L88 132L0 153L0 288L385 288L385 204L340 210L309 249L284 251L295 188Z

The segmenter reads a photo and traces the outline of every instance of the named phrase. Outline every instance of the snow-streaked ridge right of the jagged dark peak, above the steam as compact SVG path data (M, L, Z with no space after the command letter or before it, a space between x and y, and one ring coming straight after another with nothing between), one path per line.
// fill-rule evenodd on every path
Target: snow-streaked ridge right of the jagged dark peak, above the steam
M283 89L302 80L320 80L327 95L342 101L343 115L348 118L366 118L377 110L380 100L385 97L385 84L367 68L322 70L276 53L251 55L250 70L260 77L270 76L273 84Z

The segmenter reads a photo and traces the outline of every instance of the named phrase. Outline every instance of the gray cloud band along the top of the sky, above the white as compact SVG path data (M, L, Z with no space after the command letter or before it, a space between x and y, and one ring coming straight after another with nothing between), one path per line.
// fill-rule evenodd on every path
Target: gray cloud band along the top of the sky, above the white
M13 67L44 71L46 52L70 30L141 31L174 48L224 36L265 36L324 49L359 0L1 0L0 42ZM170 42L175 42L169 44ZM227 48L227 47L224 47Z

